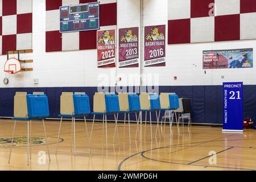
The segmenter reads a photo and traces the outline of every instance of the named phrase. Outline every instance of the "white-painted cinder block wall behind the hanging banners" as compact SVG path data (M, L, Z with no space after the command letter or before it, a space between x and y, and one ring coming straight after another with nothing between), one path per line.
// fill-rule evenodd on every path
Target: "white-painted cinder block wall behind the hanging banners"
M159 85L221 85L224 81L243 81L246 85L256 84L256 66L254 66L254 68L246 69L202 69L203 50L254 48L255 51L256 40L167 45L166 67L100 69L97 68L96 63L96 49L46 53L45 9L45 0L33 0L32 45L34 52L23 54L22 59L33 59L34 63L26 64L26 66L34 68L34 71L9 75L8 73L3 72L6 56L0 56L1 88L33 86L98 86L100 83L104 83L105 86L114 86L116 82L117 85L139 85L140 79L138 76L141 72L143 77L142 85L151 85L152 82L154 82L150 81L152 80L150 79L152 77L155 77L155 79L159 78ZM117 35L118 28L140 27L139 38L141 39L142 36L144 36L144 26L158 24L166 24L167 35L168 0L143 0L142 11L141 2L139 0L117 0L117 13ZM144 43L143 39L141 40L140 51L142 54L139 57L143 60ZM115 76L117 76L117 78L121 77L122 81L117 81ZM177 80L174 80L174 76L177 76ZM221 76L225 76L225 78L222 79ZM9 78L8 85L3 84L2 80L5 77ZM33 78L39 78L39 84L33 84Z

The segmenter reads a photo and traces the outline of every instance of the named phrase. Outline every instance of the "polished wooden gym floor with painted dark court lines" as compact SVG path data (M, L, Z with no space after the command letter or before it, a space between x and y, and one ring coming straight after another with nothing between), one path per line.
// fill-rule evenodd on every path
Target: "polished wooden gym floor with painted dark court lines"
M87 122L88 132L92 122ZM245 130L243 134L222 133L221 128L192 126L189 130L180 126L160 128L160 137L150 141L150 125L139 125L139 135L135 141L137 125L131 125L132 144L129 145L128 125L118 123L119 142L114 136L114 123L108 123L109 149L105 146L102 122L94 125L92 153L89 154L84 122L76 122L77 156L71 153L71 122L64 122L61 128L59 153L55 155L55 143L59 121L46 121L51 162L46 155L46 164L39 164L40 151L47 151L43 124L32 122L32 160L27 166L26 138L19 138L8 163L9 146L14 122L1 120L0 127L0 170L255 170L256 130ZM15 137L26 137L27 123L18 122ZM40 138L42 137L42 138ZM7 141L7 143L6 143ZM39 143L39 144L38 144ZM209 164L210 151L217 153L217 164Z

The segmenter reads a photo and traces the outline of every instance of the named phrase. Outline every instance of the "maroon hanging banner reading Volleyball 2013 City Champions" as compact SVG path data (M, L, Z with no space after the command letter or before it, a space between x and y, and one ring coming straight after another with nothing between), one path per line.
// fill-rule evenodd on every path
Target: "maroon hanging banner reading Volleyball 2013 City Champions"
M119 29L119 68L139 67L139 28Z

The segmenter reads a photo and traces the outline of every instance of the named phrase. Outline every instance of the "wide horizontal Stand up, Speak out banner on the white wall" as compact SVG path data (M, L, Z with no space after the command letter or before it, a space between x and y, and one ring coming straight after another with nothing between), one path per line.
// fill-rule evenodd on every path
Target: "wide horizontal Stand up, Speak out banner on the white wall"
M203 69L253 68L253 48L203 51Z

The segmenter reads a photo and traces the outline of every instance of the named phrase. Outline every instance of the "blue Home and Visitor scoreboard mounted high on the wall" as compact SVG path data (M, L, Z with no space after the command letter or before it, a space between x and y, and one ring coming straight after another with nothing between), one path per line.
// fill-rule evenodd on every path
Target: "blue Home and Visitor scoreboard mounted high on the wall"
M60 7L60 33L100 29L100 3Z

